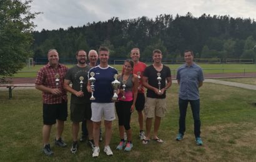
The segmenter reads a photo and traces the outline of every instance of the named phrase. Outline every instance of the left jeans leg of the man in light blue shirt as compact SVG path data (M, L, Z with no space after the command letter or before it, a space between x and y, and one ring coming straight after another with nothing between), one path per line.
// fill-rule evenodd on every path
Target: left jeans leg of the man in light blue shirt
M180 110L180 117L179 117L179 133L184 135L185 132L185 119L187 114L187 105L189 104L189 100L182 100L179 98L179 110Z

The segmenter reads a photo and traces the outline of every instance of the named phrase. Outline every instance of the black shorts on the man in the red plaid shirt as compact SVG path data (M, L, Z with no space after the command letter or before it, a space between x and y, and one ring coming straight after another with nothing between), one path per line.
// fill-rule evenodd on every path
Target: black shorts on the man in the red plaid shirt
M54 125L56 120L67 120L67 102L57 104L42 104L42 118L44 125Z

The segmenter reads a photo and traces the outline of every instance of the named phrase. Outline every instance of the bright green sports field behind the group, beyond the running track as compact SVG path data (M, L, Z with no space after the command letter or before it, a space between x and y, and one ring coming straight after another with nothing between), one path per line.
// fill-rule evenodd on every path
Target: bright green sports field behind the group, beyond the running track
M172 71L172 74L176 74L176 70L181 64L168 65ZM204 69L204 74L221 74L221 73L244 73L244 72L256 72L256 64L199 64ZM72 67L73 65L67 65ZM117 70L122 69L122 65L112 65ZM17 72L14 77L36 77L38 70L42 65L36 65L35 67L24 67L24 69Z

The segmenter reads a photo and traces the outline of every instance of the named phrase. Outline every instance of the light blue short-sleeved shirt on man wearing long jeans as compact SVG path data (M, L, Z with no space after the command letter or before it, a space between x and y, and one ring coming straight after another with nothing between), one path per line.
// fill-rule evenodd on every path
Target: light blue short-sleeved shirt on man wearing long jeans
M182 100L198 100L199 82L204 80L201 67L195 63L187 66L184 64L177 70L177 80L180 81L179 98Z

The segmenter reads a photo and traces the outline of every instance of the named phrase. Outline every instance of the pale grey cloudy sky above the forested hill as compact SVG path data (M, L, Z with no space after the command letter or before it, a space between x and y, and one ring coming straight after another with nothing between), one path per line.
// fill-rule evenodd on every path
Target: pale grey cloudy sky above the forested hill
M256 19L256 0L33 0L32 12L43 12L34 19L36 31L83 26L111 17L155 18L160 14L193 16L229 15Z

